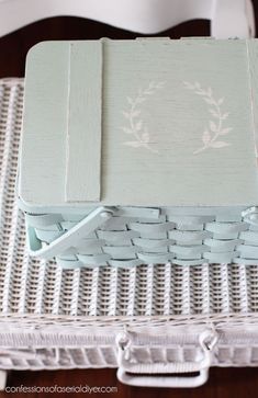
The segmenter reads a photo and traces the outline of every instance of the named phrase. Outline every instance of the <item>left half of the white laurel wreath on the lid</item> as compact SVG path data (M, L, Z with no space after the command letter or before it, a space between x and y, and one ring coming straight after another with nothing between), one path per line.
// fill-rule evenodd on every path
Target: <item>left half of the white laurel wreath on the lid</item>
M152 152L158 153L158 150L153 149L150 144L150 135L148 127L144 121L139 117L141 109L139 105L147 100L147 98L155 93L155 91L162 89L165 82L150 81L146 89L138 89L138 93L135 99L127 96L128 110L123 111L123 116L128 121L128 126L121 127L125 134L132 135L135 139L130 141L124 141L123 145L133 148L144 147Z

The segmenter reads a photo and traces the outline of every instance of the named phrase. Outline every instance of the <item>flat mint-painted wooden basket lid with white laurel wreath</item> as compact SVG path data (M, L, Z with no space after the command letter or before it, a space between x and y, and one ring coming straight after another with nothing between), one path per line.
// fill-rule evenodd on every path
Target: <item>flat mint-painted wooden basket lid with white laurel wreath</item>
M46 42L27 56L23 207L258 202L256 41Z

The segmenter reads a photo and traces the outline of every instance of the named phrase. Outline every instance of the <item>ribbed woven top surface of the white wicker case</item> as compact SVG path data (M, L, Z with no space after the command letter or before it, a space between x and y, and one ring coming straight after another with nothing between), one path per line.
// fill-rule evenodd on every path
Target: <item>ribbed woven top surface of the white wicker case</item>
M258 310L258 265L164 264L61 270L54 262L30 259L25 250L23 215L14 200L22 100L22 80L1 81L2 315L123 317L246 314ZM234 236L239 232L238 226ZM178 234L177 230L175 232Z

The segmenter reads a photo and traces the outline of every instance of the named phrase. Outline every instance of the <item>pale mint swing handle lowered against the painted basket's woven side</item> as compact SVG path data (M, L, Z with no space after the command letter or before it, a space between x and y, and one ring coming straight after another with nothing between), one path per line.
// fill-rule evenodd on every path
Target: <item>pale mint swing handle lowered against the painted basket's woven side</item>
M42 247L41 240L37 239L35 229L27 226L29 251L32 257L51 260L59 253L75 246L79 239L93 232L102 224L106 223L115 213L115 207L98 207L79 221L75 227L54 240L46 247Z

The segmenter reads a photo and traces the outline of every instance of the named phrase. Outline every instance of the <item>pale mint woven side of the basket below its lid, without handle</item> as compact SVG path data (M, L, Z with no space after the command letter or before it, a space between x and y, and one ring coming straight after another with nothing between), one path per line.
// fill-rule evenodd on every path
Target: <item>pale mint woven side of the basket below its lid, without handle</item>
M203 263L256 264L258 227L236 215L179 216L161 208L157 218L141 218L125 209L126 216L113 216L93 232L82 236L65 252L57 252L63 268L113 265L121 268L167 262L177 265ZM85 215L86 216L86 215ZM42 246L64 237L83 215L27 215Z

